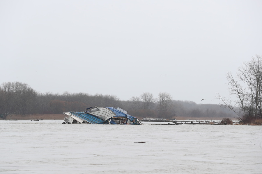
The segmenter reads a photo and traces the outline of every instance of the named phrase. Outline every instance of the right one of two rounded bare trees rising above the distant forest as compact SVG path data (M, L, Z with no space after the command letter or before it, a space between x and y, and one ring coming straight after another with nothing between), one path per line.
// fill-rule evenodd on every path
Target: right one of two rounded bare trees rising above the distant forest
M172 106L173 97L166 92L160 92L158 94L159 114L160 116L166 116L167 111Z

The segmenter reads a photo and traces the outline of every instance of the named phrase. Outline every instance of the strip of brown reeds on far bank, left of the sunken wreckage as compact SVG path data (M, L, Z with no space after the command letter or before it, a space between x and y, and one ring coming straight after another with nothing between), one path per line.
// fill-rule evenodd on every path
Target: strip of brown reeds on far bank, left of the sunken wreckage
M17 120L63 120L64 114L33 114L33 115L12 115L7 116L6 119L17 119Z

